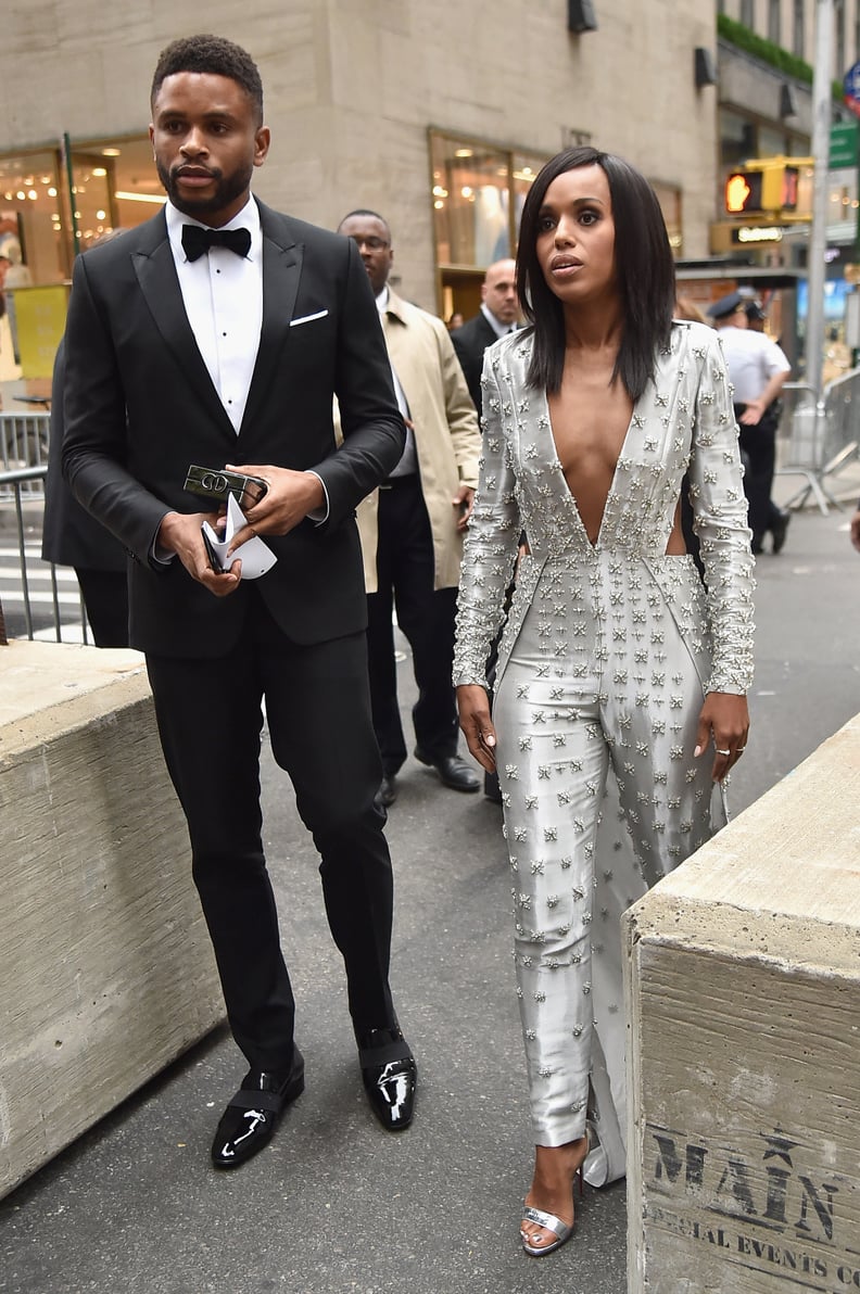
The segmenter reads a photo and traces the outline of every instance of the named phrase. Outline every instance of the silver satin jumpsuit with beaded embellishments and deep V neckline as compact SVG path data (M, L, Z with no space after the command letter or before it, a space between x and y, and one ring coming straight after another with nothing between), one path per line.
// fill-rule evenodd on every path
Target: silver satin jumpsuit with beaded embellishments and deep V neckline
M706 692L751 683L752 558L716 334L676 324L637 401L591 543L558 462L531 334L484 361L481 479L462 559L455 683L486 683L525 531L493 721L535 1140L594 1121L594 1184L624 1172L619 917L721 826ZM706 568L667 556L684 472ZM591 1158L591 1157L589 1157ZM588 1174L588 1167L592 1174Z

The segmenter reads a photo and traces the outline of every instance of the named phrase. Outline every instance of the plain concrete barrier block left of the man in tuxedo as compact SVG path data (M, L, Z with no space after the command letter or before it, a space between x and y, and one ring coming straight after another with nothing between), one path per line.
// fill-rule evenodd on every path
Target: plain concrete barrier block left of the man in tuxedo
M0 648L0 1196L224 1008L142 657Z

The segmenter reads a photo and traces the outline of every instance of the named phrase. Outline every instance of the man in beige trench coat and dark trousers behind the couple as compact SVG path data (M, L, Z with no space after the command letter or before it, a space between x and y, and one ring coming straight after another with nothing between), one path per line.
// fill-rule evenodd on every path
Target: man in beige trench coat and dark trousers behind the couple
M416 758L453 791L478 791L457 754L451 686L462 534L469 523L481 432L462 369L442 320L389 287L391 230L373 211L352 211L338 232L359 247L377 298L394 386L408 436L403 458L359 507L368 590L368 657L373 726L383 779L377 800L394 804L407 758L400 723L392 609L412 648L418 700L412 709Z

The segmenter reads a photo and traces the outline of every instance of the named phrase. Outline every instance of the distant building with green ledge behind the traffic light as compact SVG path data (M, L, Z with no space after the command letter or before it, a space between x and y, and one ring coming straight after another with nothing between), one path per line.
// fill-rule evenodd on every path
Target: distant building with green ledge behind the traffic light
M769 307L769 327L785 343L802 375L806 270L815 171L812 166L812 78L820 0L719 0L716 212L710 232L715 261L724 273L754 287ZM843 101L846 74L860 50L857 0L834 0L832 61L832 141L828 166L825 282L825 377L848 367L859 340L847 335L848 298L857 272L857 118ZM749 219L730 215L725 181L736 170L763 159L789 159L791 204ZM784 190L786 203L787 190ZM745 269L745 267L749 267ZM693 270L690 270L693 273ZM686 285L693 298L712 296L712 283Z

